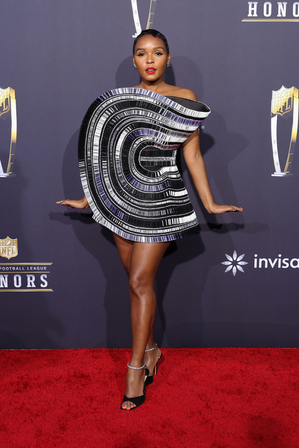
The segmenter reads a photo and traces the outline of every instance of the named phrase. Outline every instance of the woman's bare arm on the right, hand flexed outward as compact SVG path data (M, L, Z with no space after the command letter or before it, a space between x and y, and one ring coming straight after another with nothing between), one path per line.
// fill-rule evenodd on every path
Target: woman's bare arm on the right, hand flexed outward
M191 174L195 188L208 213L224 213L225 211L243 211L243 207L215 204L208 184L204 159L199 147L199 132L196 129L182 143L183 155Z

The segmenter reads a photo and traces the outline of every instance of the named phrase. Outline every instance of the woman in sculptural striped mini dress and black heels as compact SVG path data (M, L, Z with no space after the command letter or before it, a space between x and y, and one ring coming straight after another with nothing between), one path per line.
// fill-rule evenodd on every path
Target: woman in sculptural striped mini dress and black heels
M162 356L153 334L156 314L153 281L161 258L170 241L198 233L200 229L175 165L175 153L180 142L196 190L208 213L243 211L242 207L214 203L199 149L198 133L199 123L210 111L197 101L191 90L164 82L163 74L169 65L165 36L156 30L143 30L133 46L133 67L140 74L140 84L103 94L91 105L93 107L83 120L79 164L86 193L84 198L56 202L73 208L90 205L95 220L113 231L121 263L129 279L131 304L132 357L121 403L121 409L126 410L143 403L145 385L152 383L153 370L156 372L157 362ZM101 119L96 118L99 108ZM110 127L106 126L107 114L111 117ZM91 127L96 120L101 123L100 131L92 131L92 134ZM124 125L121 128L122 121ZM98 137L100 133L103 133L103 138ZM123 133L126 138L120 144ZM91 134L92 138L89 138ZM90 153L84 149L88 145ZM110 151L113 145L114 150ZM141 151L143 156L140 156ZM88 170L91 170L91 175ZM132 173L139 182L133 179ZM160 183L157 184L156 179ZM130 188L121 190L120 185L130 185ZM115 194L117 189L118 196ZM114 205L113 200L116 201ZM118 206L124 204L125 207L118 210ZM162 219L162 215L169 218Z

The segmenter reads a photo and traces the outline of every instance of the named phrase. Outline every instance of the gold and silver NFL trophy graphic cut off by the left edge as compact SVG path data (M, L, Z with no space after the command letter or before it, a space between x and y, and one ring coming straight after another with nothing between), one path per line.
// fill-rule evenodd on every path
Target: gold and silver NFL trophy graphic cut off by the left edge
M0 177L15 176L15 174L13 174L13 160L17 140L17 109L15 93L11 87L7 87L7 89L2 89L0 87L0 118L6 120L6 118L9 117L9 111L11 116L10 147L3 148L0 140Z

